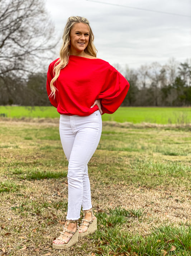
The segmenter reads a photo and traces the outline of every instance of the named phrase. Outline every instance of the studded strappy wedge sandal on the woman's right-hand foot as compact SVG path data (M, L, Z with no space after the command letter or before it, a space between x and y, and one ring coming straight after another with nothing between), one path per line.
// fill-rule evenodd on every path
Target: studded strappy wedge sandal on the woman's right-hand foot
M85 219L85 214L88 213L88 212L91 212L91 221L90 220L86 220ZM82 230L82 233L79 233L79 237L86 237L87 235L90 235L92 233L94 233L97 229L97 218L95 217L94 219L94 214L92 212L92 209L91 210L88 210L88 211L83 211L83 219L82 219L82 223L80 225L80 229L79 230ZM87 222L84 223L84 221ZM87 230L84 231L84 229L82 229L82 226L87 226Z

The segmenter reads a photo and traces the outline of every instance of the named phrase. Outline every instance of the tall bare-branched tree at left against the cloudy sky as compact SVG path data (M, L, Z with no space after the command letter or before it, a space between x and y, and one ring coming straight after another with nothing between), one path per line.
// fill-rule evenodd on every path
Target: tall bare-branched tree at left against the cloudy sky
M0 85L11 98L17 93L11 80L43 71L44 59L57 44L53 31L42 0L0 0Z

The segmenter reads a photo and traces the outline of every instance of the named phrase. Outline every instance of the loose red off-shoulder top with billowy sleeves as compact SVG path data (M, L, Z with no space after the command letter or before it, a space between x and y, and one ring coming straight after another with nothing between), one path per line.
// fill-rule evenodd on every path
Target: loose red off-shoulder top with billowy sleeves
M57 60L48 68L48 96L51 94L50 82ZM128 92L129 82L105 60L70 55L67 66L61 69L54 86L57 88L55 98L52 96L49 100L58 113L89 116L98 110L97 105L91 108L96 99L101 100L103 113L114 113Z

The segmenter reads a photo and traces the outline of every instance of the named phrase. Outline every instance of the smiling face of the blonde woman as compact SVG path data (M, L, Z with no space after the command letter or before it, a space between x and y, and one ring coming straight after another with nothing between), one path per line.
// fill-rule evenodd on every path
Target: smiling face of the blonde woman
M89 42L90 29L85 23L75 23L70 31L70 54L83 52Z

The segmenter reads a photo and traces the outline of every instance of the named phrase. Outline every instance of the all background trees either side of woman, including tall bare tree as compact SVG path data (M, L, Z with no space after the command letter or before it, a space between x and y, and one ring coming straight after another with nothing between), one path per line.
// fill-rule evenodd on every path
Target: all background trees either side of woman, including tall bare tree
M50 105L44 67L58 41L44 2L1 0L0 21L0 105ZM130 83L124 106L191 105L188 60L126 70L114 66Z

